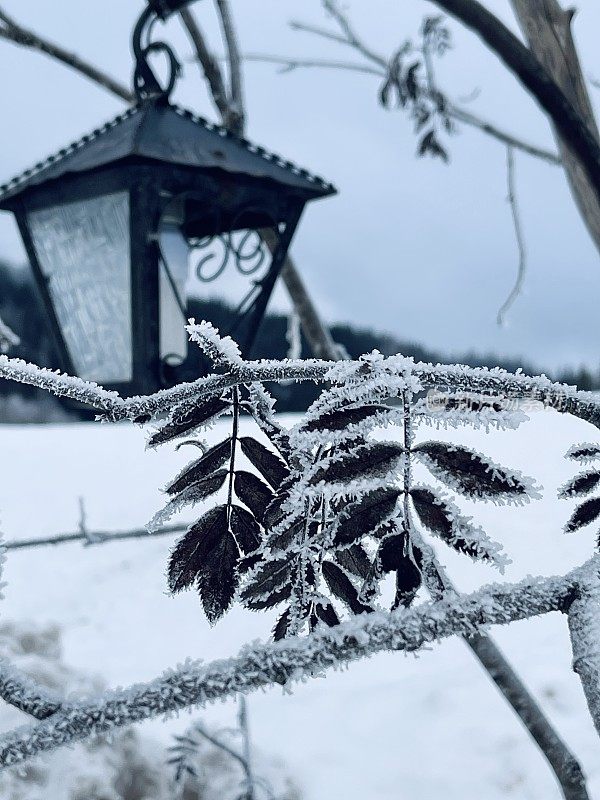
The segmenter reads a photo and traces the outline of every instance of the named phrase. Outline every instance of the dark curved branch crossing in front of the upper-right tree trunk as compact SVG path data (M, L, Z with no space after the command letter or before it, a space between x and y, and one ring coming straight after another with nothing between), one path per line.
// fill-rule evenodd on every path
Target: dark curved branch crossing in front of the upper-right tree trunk
M600 201L600 144L533 53L478 0L432 0L477 33L548 114L576 154Z

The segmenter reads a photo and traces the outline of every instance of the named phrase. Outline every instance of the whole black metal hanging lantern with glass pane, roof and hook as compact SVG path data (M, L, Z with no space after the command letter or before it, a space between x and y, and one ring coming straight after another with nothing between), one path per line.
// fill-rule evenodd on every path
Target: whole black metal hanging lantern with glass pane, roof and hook
M248 354L304 205L335 191L169 102L177 60L168 45L142 39L156 17L185 4L149 0L140 17L135 106L0 187L63 368L124 394L178 378L194 251L201 280L231 262L251 276L235 332ZM166 89L147 61L155 50L169 56Z

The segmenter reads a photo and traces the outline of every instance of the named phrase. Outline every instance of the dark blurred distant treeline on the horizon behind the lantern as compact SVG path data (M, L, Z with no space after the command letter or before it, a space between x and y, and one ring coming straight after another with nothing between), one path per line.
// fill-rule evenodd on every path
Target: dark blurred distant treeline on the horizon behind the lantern
M233 309L219 300L191 298L189 316L195 319L209 319L221 331L232 327ZM19 335L21 344L11 351L11 355L35 364L57 368L59 366L52 334L48 325L41 298L27 269L17 268L0 261L0 317ZM253 357L285 358L288 355L288 318L282 314L269 314L263 320ZM528 374L539 374L535 364L518 358L479 354L469 352L463 355L441 353L421 345L398 339L387 333L379 333L368 328L359 328L349 323L333 325L333 338L345 348L351 357L379 350L384 355L402 353L418 361L448 362L458 361L470 366L500 366L514 371L521 368ZM302 355L310 356L307 344L302 340ZM190 347L190 355L185 364L185 372L191 376L202 374L200 353L195 346ZM563 369L550 375L555 380L575 384L580 389L600 389L600 369L592 372L580 367ZM290 384L270 387L277 396L281 411L300 411L305 409L317 395L318 388L312 384ZM63 406L60 401L49 397L45 392L29 386L0 380L0 422L43 422L76 417L77 414Z

